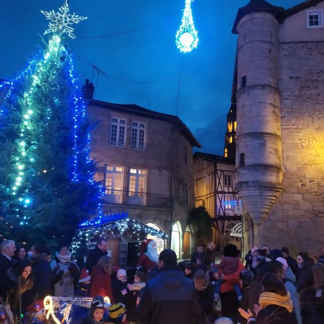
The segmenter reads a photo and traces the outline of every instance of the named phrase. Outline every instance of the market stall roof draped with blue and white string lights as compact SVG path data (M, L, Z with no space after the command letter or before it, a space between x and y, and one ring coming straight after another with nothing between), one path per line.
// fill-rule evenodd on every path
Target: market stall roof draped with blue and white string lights
M124 240L123 234L125 231L130 230L129 236L132 237L136 235L138 241L141 240L141 232L158 238L166 239L168 237L168 234L164 232L128 218L128 212L99 216L92 221L85 221L81 223L79 227L80 228L76 230L70 245L72 255L75 255L76 250L80 248L82 241L85 241L87 248L90 249L93 237L98 235L108 238L120 238ZM118 234L113 234L114 230L118 231ZM107 234L109 231L111 234Z

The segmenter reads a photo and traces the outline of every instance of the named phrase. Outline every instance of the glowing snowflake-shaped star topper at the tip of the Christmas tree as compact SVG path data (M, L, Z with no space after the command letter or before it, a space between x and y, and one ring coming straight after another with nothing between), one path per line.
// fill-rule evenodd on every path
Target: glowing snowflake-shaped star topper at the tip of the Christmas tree
M65 0L64 5L59 8L59 12L54 12L54 10L50 12L41 10L41 13L45 15L46 19L51 20L49 28L45 31L44 35L54 32L59 37L61 37L63 33L66 33L69 37L75 38L73 34L74 28L72 28L71 25L77 24L88 18L75 15L75 13L73 13L73 15L69 14L68 0Z

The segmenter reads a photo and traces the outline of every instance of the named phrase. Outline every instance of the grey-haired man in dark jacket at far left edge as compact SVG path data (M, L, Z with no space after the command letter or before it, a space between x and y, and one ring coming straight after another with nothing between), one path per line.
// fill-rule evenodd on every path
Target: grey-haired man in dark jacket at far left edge
M5 280L8 278L7 271L11 268L12 265L16 263L16 260L12 257L16 251L15 241L10 239L3 240L0 244L0 297L3 300L6 300L6 287Z

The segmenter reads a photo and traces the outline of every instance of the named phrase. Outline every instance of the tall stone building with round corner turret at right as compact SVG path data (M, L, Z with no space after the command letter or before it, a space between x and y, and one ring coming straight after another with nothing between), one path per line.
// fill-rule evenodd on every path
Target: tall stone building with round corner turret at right
M239 8L236 189L246 250L318 255L324 232L324 1Z

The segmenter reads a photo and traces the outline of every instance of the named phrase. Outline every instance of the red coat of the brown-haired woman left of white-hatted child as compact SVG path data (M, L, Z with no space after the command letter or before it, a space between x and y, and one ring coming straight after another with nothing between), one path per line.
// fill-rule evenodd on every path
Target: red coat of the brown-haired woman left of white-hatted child
M94 266L91 271L91 285L89 289L89 296L108 296L110 303L114 304L112 288L111 288L111 277L109 274L98 267Z

